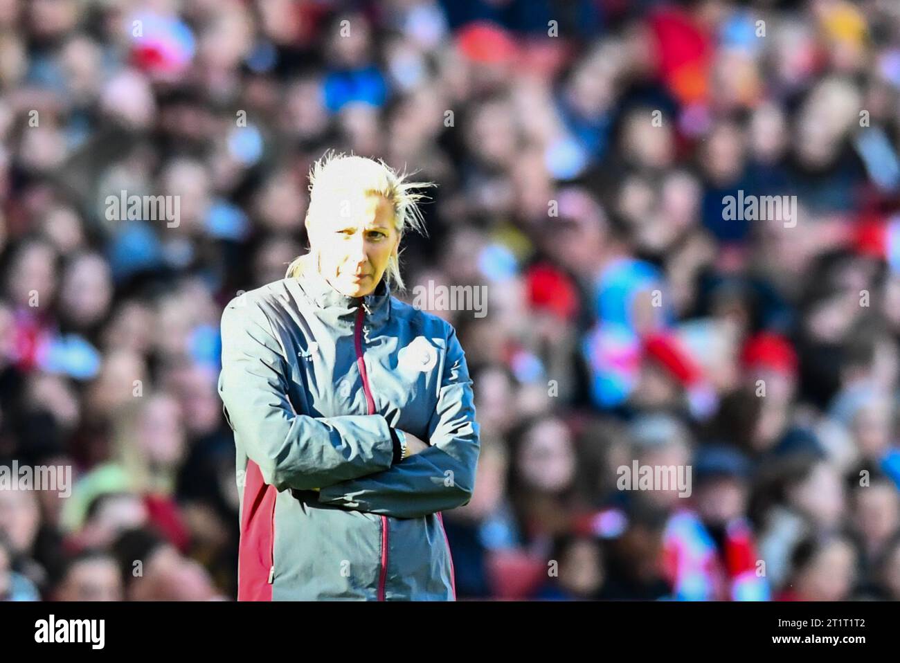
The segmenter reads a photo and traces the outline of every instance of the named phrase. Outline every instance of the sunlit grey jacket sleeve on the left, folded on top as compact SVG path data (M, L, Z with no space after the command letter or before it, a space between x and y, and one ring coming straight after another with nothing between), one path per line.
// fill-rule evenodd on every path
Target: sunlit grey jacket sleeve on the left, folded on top
M267 484L312 489L391 467L381 415L309 417L287 398L289 366L265 312L232 300L222 313L219 394L229 426Z

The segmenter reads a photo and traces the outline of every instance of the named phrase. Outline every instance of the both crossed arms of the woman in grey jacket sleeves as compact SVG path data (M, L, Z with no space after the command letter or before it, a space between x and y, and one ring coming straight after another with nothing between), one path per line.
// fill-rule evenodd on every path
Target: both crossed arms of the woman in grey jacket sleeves
M467 504L480 451L472 381L449 327L428 449L399 461L381 415L308 417L287 399L282 346L258 306L222 314L219 393L229 425L267 484L320 488L320 501L359 511L418 517Z

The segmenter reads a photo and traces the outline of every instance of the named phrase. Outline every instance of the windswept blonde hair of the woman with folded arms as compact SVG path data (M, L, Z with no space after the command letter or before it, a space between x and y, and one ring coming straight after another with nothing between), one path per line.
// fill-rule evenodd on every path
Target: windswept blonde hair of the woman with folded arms
M383 196L393 206L394 228L402 240L409 228L420 234L427 234L419 202L428 196L416 193L415 189L435 186L433 182L410 182L410 174L398 173L382 159L375 161L366 157L335 153L331 150L310 168L310 206L306 211L306 227L311 223L328 220L335 213L329 203L334 202L334 194L340 192L376 194ZM398 242L398 246L399 246ZM397 291L406 289L400 273L400 249L388 260L384 278ZM294 258L288 266L286 278L297 278L311 264L311 254ZM318 269L318 263L312 264Z

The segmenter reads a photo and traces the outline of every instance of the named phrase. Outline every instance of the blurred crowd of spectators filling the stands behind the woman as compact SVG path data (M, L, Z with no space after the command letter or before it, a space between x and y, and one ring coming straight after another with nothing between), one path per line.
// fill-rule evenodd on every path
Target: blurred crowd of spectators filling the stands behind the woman
M459 598L900 599L898 138L896 0L0 0L0 462L74 469L0 598L236 596L220 312L335 148L438 184L398 296L487 286Z

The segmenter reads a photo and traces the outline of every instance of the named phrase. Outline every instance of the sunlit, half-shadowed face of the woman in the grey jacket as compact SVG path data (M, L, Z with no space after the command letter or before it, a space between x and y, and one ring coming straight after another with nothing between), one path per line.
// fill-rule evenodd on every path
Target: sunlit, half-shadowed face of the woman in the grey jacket
M377 194L338 195L331 219L308 224L312 253L320 255L320 272L347 297L365 297L381 282L396 254L400 236L391 202Z

